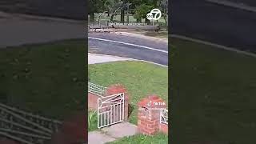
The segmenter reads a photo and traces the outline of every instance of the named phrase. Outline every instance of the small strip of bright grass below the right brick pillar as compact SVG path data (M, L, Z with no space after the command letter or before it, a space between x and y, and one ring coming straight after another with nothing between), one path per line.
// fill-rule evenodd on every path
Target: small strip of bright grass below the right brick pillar
M147 136L143 134L137 134L130 137L118 139L114 142L108 142L107 144L167 144L168 136L166 134L156 134L154 136Z

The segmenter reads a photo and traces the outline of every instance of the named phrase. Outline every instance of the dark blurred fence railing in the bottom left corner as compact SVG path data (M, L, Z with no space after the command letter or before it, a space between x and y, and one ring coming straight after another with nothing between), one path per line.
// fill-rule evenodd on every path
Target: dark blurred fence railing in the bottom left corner
M62 124L0 103L0 135L24 144L43 144Z

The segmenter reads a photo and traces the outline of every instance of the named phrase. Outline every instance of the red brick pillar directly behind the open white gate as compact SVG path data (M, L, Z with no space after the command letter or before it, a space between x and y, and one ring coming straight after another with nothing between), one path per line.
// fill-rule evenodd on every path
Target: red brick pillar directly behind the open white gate
M124 93L125 95L125 115L124 115L124 121L128 121L128 104L129 104L129 94L127 93L127 90L124 86L121 84L111 85L106 89L106 95L112 95L112 94L120 94Z

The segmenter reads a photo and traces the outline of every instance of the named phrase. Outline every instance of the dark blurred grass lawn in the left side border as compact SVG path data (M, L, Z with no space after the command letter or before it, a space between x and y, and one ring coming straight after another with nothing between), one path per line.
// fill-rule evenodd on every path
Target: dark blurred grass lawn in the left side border
M81 39L0 49L0 101L58 119L84 110L85 46Z

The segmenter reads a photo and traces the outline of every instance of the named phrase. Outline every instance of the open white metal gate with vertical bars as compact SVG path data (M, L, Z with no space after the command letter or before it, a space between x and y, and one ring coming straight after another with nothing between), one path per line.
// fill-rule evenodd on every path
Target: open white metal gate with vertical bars
M124 120L124 93L98 98L98 128Z

